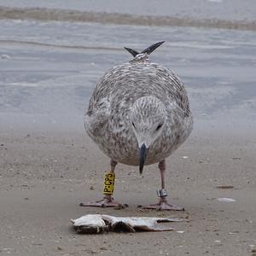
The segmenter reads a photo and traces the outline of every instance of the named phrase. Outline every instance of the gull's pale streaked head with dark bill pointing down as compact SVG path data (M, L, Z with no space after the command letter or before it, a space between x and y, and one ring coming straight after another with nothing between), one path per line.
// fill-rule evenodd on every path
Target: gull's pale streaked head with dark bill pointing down
M166 108L158 98L143 96L133 103L130 119L140 148L139 170L143 173L148 149L166 125Z

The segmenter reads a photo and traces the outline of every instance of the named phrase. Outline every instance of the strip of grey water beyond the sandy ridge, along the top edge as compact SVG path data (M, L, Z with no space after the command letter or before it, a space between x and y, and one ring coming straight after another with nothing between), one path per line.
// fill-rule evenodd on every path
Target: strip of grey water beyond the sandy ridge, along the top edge
M255 20L254 0L0 0L0 6L9 8L47 8L73 11L173 16L192 19Z

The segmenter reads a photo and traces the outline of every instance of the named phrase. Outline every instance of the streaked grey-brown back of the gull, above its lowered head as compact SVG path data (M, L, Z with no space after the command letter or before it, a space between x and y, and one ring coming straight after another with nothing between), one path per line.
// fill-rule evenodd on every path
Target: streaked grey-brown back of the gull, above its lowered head
M144 58L134 58L105 73L90 98L87 114L119 108L122 102L125 108L129 108L139 97L156 96L171 108L175 102L184 114L189 115L187 92L177 75L166 67L149 62L147 55Z

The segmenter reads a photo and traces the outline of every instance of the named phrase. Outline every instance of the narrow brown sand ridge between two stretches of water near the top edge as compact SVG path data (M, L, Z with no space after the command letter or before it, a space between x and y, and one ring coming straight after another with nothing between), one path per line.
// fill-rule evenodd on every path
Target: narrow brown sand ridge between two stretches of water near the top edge
M132 26L186 26L235 30L256 30L256 20L223 20L178 16L132 15L68 9L6 8L0 6L1 20L93 22Z

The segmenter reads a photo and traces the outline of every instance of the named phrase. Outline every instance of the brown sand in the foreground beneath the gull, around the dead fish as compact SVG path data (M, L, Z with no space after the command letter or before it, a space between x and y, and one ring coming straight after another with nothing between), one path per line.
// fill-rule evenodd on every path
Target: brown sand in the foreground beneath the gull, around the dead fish
M157 165L143 177L116 169L116 200L128 208L79 207L102 197L108 158L83 132L1 131L1 255L253 255L256 245L255 137L192 135L167 160L166 187L185 212L139 212L157 201ZM224 143L223 143L224 140ZM188 158L183 158L188 156ZM218 186L231 185L231 189ZM219 202L219 197L235 202ZM183 230L81 236L70 218L86 213L183 216ZM251 246L251 247L250 247Z

